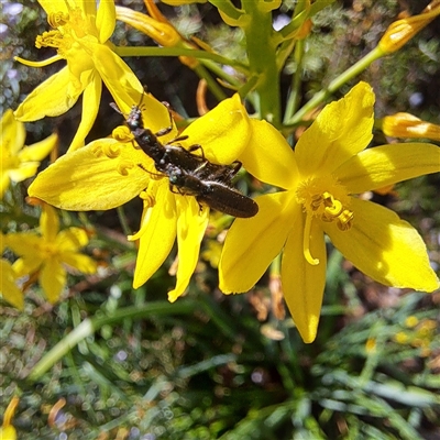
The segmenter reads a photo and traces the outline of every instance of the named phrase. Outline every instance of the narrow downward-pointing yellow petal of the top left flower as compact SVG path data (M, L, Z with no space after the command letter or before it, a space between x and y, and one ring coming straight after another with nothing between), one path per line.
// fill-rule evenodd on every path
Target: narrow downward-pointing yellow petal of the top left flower
M98 116L99 103L101 100L102 81L101 78L94 73L91 80L87 84L82 94L82 112L81 121L75 133L75 138L69 146L69 152L84 146L86 136L89 134L96 118Z

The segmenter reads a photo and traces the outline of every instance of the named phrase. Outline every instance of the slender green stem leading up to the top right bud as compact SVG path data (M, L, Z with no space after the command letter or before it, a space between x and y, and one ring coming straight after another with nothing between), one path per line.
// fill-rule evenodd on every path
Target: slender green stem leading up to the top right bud
M365 70L373 62L386 55L380 47L375 47L369 54L366 54L362 59L346 69L339 77L334 78L327 88L318 91L304 107L301 107L288 121L287 125L295 125L302 120L302 118L317 106L329 98L334 91L342 87L350 79L354 78L363 70Z

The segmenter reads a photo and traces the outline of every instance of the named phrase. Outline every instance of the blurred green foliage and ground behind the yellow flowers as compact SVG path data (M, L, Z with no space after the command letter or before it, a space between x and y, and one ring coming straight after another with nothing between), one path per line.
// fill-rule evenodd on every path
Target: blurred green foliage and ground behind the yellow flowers
M120 3L138 7L128 0ZM294 3L285 1L279 15ZM354 0L323 10L307 42L304 100L373 48L402 9L417 13L425 6L420 3L427 2ZM1 112L16 108L59 68L32 69L11 61L14 55L50 56L48 51L34 48L34 37L46 29L46 21L35 1L2 2L2 7ZM240 31L223 25L209 4L162 10L174 16L182 33L201 32L200 37L220 53L241 50ZM437 20L404 51L373 64L359 78L376 91L377 117L410 111L439 122L439 31ZM153 44L121 23L114 42ZM177 59L128 62L160 100L169 101L183 114L196 116L197 78ZM290 59L286 87L295 68ZM215 101L209 98L208 102ZM55 129L63 153L74 135L79 109L80 102L59 118L29 124L26 143ZM106 136L121 123L120 114L106 103L100 111L92 138ZM377 143L383 142L381 135ZM395 195L375 196L421 232L437 268L439 187L435 175L402 184ZM37 212L23 205L24 196L25 188L16 186L3 200L3 230L37 226ZM140 209L136 200L124 207L131 230L138 228ZM55 307L47 305L37 288L28 292L24 314L0 305L0 413L19 391L14 426L20 439L440 437L439 294L380 286L332 251L318 340L306 345L292 319L275 317L279 311L272 309L267 280L241 296L226 297L218 290L210 265L216 257L216 219L189 295L169 305L164 299L173 284L167 273L172 261L144 287L132 289L135 249L125 241L116 211L63 216L65 226L82 224L94 231L90 249L101 267L98 275L87 278L72 275L68 295ZM124 310L133 306L139 317L128 319ZM36 383L30 381L43 354L87 317L95 326L94 334Z

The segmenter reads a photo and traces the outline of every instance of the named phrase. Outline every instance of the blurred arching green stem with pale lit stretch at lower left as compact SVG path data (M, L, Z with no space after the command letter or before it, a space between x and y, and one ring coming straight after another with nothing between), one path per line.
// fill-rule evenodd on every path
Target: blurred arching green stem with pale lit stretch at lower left
M32 369L28 380L35 382L66 353L68 353L79 342L84 341L98 331L102 326L123 321L124 319L138 319L148 316L161 315L188 315L196 308L196 304L190 300L182 300L176 304L166 301L150 302L145 306L125 307L114 311L111 316L98 316L86 318L78 327L61 340Z

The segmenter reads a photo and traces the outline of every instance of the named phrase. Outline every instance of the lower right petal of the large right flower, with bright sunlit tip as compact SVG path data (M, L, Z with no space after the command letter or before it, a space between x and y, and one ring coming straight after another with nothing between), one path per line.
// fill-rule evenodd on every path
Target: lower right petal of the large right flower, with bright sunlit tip
M371 201L352 199L353 226L340 231L322 223L342 254L360 271L387 286L433 292L439 280L418 232L392 210Z

